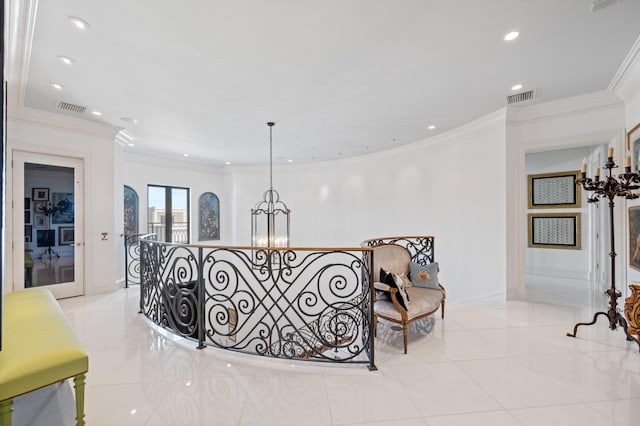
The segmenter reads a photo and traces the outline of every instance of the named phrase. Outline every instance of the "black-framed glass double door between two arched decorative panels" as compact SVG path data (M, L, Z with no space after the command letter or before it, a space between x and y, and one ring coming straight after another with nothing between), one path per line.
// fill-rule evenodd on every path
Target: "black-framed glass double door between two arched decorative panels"
M148 231L158 241L189 243L189 188L148 185Z

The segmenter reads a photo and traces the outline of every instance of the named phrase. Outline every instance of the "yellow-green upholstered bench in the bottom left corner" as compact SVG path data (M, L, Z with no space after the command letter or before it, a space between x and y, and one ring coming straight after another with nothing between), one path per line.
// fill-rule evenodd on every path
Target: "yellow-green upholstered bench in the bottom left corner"
M13 399L73 377L76 425L84 425L89 356L49 290L6 295L0 351L0 426L11 426Z

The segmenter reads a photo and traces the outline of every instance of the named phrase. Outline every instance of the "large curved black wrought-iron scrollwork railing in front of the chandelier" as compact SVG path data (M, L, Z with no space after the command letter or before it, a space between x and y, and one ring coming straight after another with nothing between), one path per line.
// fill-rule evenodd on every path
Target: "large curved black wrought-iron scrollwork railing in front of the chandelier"
M187 339L375 369L371 250L140 241L140 312Z

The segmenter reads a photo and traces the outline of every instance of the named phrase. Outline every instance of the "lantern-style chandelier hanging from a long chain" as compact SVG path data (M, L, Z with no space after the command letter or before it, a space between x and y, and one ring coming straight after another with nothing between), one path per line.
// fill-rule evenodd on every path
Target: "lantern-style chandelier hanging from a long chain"
M251 245L254 247L289 247L289 213L291 210L280 201L273 189L273 126L269 126L269 189L251 209Z

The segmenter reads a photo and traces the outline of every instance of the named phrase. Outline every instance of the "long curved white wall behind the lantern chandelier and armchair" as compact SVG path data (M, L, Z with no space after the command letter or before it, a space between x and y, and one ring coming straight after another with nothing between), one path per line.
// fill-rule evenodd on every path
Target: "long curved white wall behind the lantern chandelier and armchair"
M504 293L505 118L498 111L437 138L334 162L274 167L292 210L294 247L357 247L368 238L434 235L450 300ZM236 169L234 244L250 241L249 210L267 168Z

